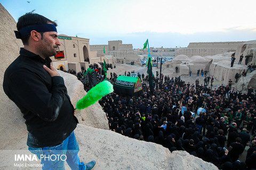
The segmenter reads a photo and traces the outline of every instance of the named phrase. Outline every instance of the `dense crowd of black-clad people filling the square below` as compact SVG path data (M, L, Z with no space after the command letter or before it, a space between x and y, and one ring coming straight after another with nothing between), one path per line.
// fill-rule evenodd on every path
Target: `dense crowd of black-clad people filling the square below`
M125 71L125 75L129 73ZM116 73L108 78L113 84L116 79ZM98 81L103 81L100 72ZM99 101L110 130L158 143L170 151L187 151L220 169L256 168L256 96L252 87L244 94L228 85L213 89L198 79L190 84L158 73L154 91L150 91L148 75L142 73L141 82L139 96L113 92ZM202 108L205 112L197 115ZM239 162L246 146L250 148L245 162Z

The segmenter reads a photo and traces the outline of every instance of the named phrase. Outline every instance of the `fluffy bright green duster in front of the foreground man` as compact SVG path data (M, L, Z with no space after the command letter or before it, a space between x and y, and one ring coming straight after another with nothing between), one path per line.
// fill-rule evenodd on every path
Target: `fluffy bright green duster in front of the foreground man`
M93 105L103 96L106 96L113 91L113 84L111 84L109 81L102 81L95 87L93 87L90 91L88 91L86 96L84 96L81 100L77 101L76 108L80 110L90 105Z

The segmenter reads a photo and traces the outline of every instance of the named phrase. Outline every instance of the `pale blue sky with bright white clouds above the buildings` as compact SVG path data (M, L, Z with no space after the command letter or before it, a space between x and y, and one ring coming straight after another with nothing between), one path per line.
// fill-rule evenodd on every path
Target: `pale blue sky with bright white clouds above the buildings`
M57 21L58 33L90 45L122 40L133 48L256 39L255 0L0 0L15 21L30 11Z

